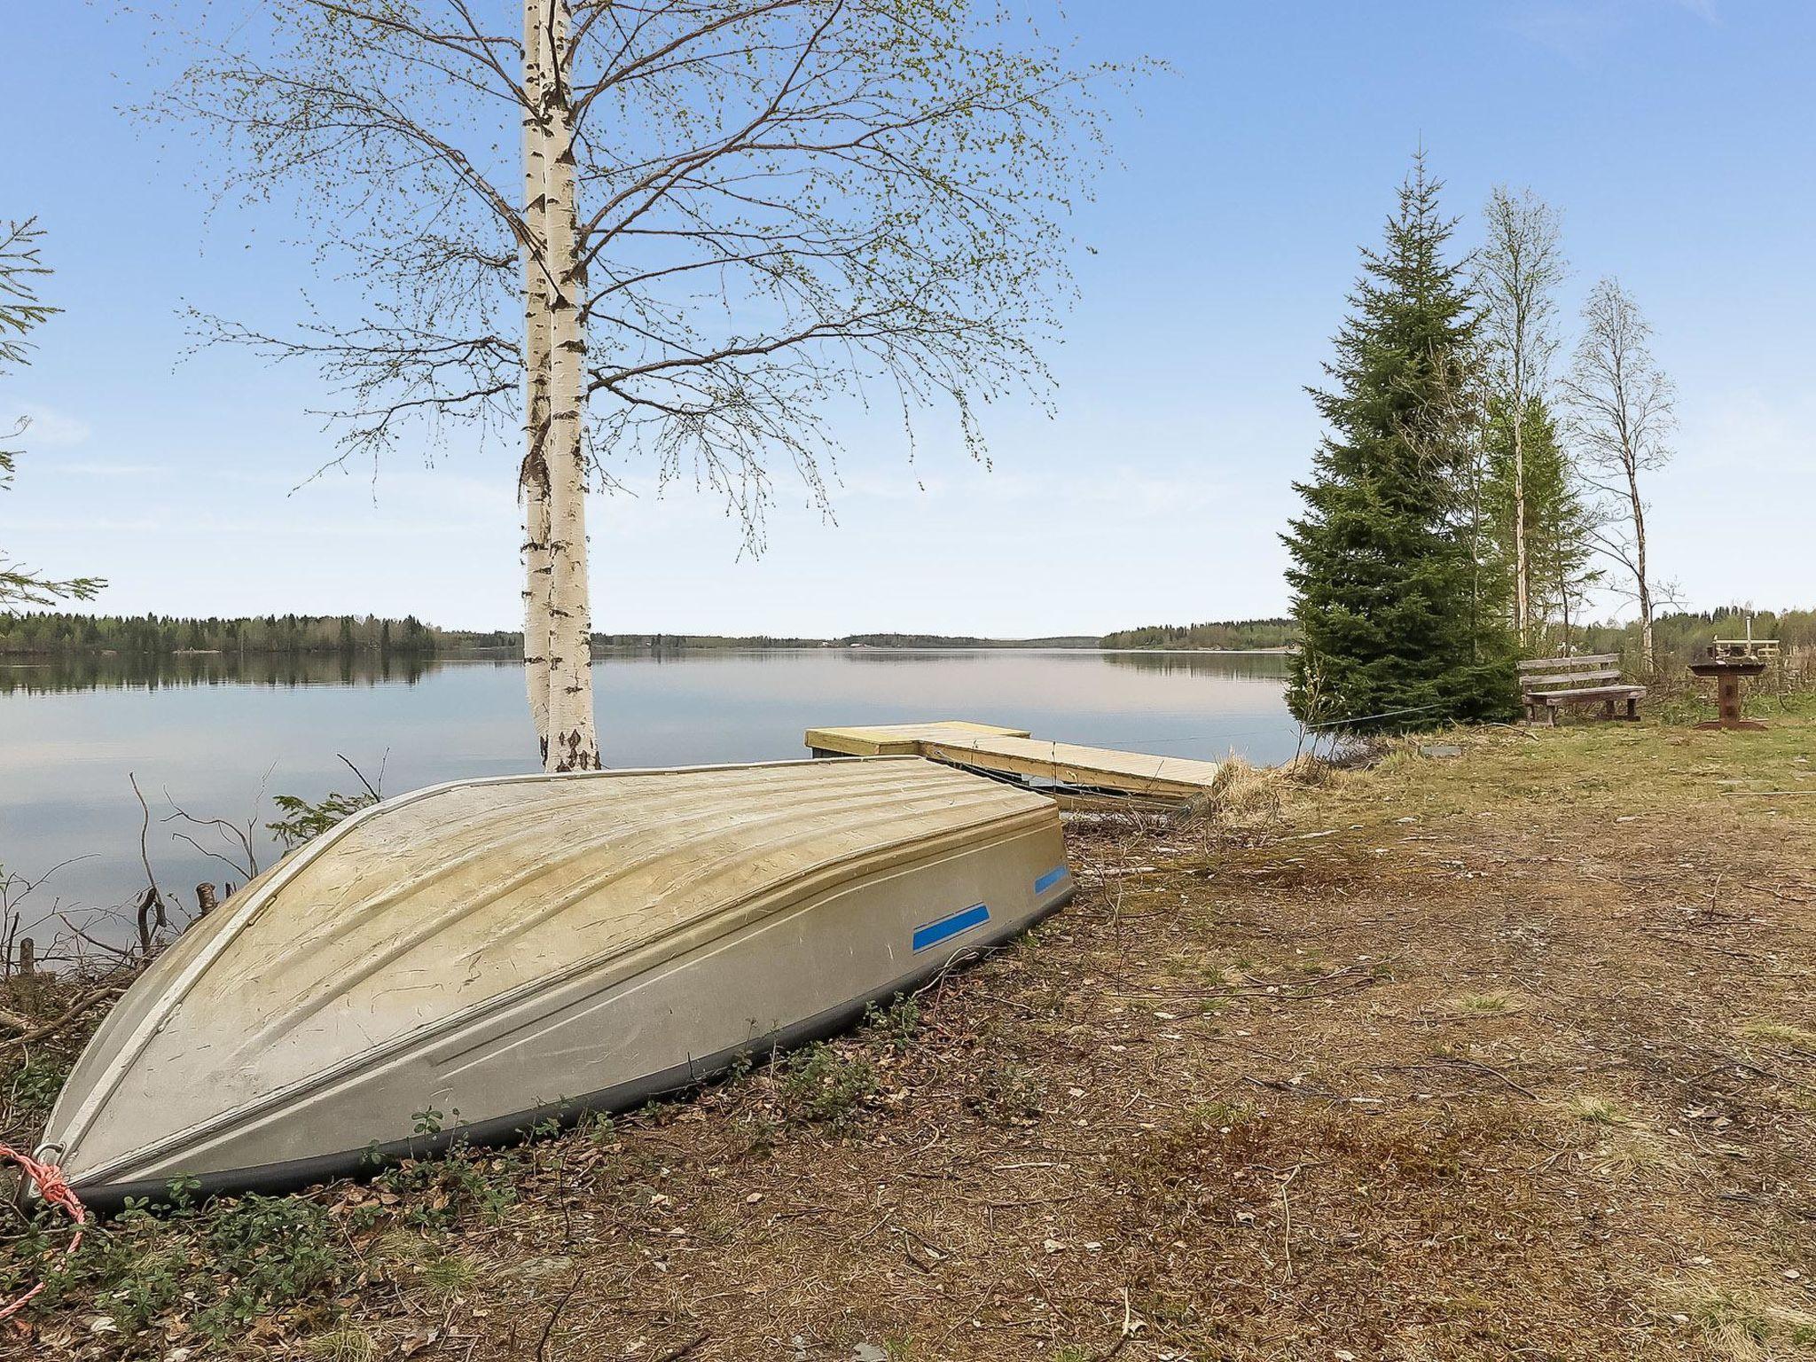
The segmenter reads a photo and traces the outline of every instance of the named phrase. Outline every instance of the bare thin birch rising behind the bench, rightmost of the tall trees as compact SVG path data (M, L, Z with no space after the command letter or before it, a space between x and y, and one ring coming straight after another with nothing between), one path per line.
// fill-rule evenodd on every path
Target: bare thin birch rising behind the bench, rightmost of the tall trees
M1647 561L1640 474L1671 463L1676 429L1676 389L1653 360L1651 338L1633 294L1604 278L1584 303L1584 336L1564 383L1585 476L1607 503L1593 539L1631 583L1647 668L1658 581Z

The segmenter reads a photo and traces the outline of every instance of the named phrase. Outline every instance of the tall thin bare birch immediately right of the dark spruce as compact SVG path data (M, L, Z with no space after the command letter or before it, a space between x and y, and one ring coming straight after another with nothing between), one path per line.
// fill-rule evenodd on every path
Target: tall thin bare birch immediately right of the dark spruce
M1558 349L1554 291L1567 271L1558 214L1529 189L1496 185L1482 211L1487 240L1476 252L1482 340L1495 396L1507 412L1545 401ZM1522 646L1533 634L1533 527L1527 498L1525 421L1509 423L1513 456L1513 628Z

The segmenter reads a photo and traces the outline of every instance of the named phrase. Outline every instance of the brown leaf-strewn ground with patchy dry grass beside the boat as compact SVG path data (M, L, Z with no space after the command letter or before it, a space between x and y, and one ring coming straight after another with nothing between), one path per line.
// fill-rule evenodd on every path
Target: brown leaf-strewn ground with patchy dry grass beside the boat
M196 1324L243 1249L198 1215L16 1346L1816 1357L1816 721L1458 741L1239 826L1073 826L1073 906L912 1035L316 1193L332 1262L243 1329Z

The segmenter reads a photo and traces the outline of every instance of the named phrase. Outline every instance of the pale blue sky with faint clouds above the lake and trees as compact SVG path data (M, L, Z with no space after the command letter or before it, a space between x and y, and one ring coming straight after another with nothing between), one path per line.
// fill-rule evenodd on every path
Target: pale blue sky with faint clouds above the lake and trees
M505 0L492 0L505 4ZM25 412L0 547L109 579L133 614L416 614L518 623L508 450L332 454L305 369L189 354L185 305L300 316L307 254L211 212L105 0L7 5L0 218L36 214L64 311ZM1564 314L1618 274L1676 380L1653 558L1696 608L1816 601L1816 140L1807 0L1071 0L1081 60L1164 58L1117 105L1119 163L1077 218L1055 410L992 410L992 459L913 463L854 423L834 518L779 479L768 548L692 489L594 496L594 628L1035 637L1282 614L1320 380L1357 251L1426 147L1471 243L1495 183L1564 214ZM1616 610L1616 601L1605 601Z

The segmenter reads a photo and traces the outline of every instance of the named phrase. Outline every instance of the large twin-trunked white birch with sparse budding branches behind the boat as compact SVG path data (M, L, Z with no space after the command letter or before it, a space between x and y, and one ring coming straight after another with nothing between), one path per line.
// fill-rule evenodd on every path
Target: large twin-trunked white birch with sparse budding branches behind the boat
M209 341L312 363L332 465L521 441L525 663L550 770L597 765L587 489L828 505L835 423L1046 401L1093 80L1008 0L263 0L191 25L160 104L223 194L294 202L358 307ZM512 133L516 129L516 133ZM521 183L521 191L518 185ZM510 320L510 318L521 318Z

